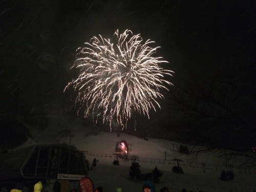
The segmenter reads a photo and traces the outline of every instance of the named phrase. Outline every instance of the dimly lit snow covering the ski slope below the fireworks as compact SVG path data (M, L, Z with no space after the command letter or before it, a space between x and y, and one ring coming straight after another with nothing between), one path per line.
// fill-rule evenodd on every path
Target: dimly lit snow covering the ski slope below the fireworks
M157 166L164 173L160 183L156 185L156 191L159 192L163 186L167 186L170 192L181 191L185 188L187 191L252 191L256 189L256 172L254 168L232 168L235 178L233 181L222 181L220 177L221 170L229 170L225 166L224 160L217 158L219 154L208 152L200 154L197 161L189 160L188 156L180 156L183 160L180 163L184 174L175 174L172 167L176 165L172 161L174 157L167 156L164 146L179 146L179 143L172 141L148 138L148 141L120 133L100 132L98 135L86 137L88 130L72 130L74 137L71 138L71 144L75 145L78 150L86 151L86 159L89 160L90 166L93 159L98 160L94 170L90 170L88 177L93 181L94 188L103 187L104 192L115 191L116 187L121 186L124 192L142 192L143 181L131 180L129 178L129 167L132 160L118 159L119 165L114 165L116 141L126 140L132 145L132 151L129 150L129 157L136 155L139 157L140 170L142 174L151 173ZM44 135L29 140L25 145L51 144L51 143L70 143L70 137L56 137L56 135ZM130 147L130 146L129 146ZM205 162L205 173L201 163ZM233 162L235 163L235 162ZM241 173L242 172L242 173Z

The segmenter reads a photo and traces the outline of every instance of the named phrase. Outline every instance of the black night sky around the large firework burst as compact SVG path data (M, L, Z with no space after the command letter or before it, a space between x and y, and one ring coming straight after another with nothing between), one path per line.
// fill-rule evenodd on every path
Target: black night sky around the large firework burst
M63 90L76 78L69 70L76 49L98 34L111 39L117 29L156 41L157 56L169 62L164 68L175 71L175 86L187 72L255 54L250 0L6 0L0 12L2 117L61 116L59 124L65 122L72 103Z

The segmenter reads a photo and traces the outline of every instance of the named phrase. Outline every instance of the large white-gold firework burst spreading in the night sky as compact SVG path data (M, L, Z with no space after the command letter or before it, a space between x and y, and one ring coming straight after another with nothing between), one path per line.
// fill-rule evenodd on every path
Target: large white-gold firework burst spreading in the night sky
M96 121L103 118L103 123L111 127L116 120L123 127L135 112L148 115L163 98L159 89L168 90L164 84L172 84L163 79L173 71L164 70L159 63L167 62L162 57L153 57L159 47L151 48L154 41L142 44L141 36L126 30L114 33L116 44L108 39L93 37L85 47L78 48L74 66L80 69L77 79L68 83L78 91L76 104L84 110L84 117L92 116ZM84 57L83 57L84 56Z

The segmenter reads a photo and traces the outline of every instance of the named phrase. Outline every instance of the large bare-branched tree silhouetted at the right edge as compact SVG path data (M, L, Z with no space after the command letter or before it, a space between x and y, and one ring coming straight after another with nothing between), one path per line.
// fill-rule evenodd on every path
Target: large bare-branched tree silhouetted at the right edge
M181 86L170 90L172 115L168 114L165 127L189 144L189 155L222 150L222 158L243 156L247 164L255 165L251 153L256 138L254 60L236 58L208 73L187 74ZM196 145L207 147L195 150Z

